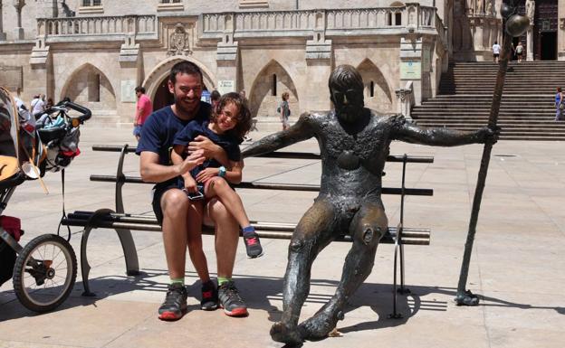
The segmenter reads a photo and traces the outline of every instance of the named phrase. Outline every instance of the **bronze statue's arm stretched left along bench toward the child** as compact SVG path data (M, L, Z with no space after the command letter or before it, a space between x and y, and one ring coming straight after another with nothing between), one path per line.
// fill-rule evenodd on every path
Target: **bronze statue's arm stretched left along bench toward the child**
M269 136L264 136L261 140L245 147L242 156L252 157L254 155L267 154L282 147L309 139L312 136L314 136L314 133L311 127L311 115L304 113L298 121L288 129L273 133Z

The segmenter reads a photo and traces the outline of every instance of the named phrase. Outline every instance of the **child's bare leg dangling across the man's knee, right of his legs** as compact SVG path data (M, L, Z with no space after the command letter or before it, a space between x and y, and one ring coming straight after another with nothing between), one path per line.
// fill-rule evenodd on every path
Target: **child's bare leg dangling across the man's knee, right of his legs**
M241 201L239 194L232 190L225 182L224 178L216 176L206 182L204 194L206 200L217 196L220 202L224 204L225 209L234 216L235 221L237 221L242 229L250 225L249 218L244 210L244 203Z

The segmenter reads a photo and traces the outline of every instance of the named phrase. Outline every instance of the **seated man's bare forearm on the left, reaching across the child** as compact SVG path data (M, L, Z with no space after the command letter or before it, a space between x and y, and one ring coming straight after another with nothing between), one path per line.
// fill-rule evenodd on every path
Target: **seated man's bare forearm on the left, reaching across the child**
M178 165L159 164L159 155L151 151L141 152L139 158L139 174L146 183L162 183L168 179L187 173L196 165L202 165L206 157L203 151L195 151Z

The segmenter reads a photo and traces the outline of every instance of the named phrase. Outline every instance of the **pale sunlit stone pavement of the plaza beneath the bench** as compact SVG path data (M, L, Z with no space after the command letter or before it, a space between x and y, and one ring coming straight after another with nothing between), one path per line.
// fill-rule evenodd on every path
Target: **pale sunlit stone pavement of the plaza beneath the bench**
M256 139L264 134L254 132ZM129 129L82 128L82 154L66 174L65 208L113 208L110 183L91 183L90 174L113 174L118 154L92 152L94 144L132 142ZM293 149L317 151L315 141ZM562 348L565 346L565 146L561 142L501 141L484 191L468 287L482 297L480 306L455 306L455 288L474 195L482 146L437 148L395 143L391 154L434 155L431 165L412 164L408 187L432 187L433 197L408 197L405 225L429 227L429 247L407 246L408 296L400 296L405 317L388 319L392 311L391 245L381 245L372 274L350 299L340 337L307 342L304 347L469 347ZM127 174L138 175L138 158L128 155ZM400 166L388 164L386 186L396 186ZM318 183L316 161L251 158L245 180ZM47 174L51 193L38 183L24 183L5 211L22 219L23 244L52 233L61 216L60 174ZM128 212L150 213L149 185L126 184ZM240 190L254 220L298 221L313 193ZM390 224L398 221L398 197L386 196ZM0 287L0 347L281 347L269 328L282 309L282 276L288 240L263 240L265 255L246 259L240 243L236 283L250 315L229 318L221 311L198 309L199 282L187 265L189 312L175 323L157 318L168 280L160 234L134 231L143 274L126 277L116 233L95 230L89 255L95 297L81 297L80 274L72 296L52 313L37 315L15 299L11 282ZM78 252L79 229L72 246ZM208 263L215 272L213 239L204 237ZM311 295L301 318L316 312L335 291L348 243L333 243L312 268ZM1 266L0 266L1 267ZM79 272L80 273L80 272Z

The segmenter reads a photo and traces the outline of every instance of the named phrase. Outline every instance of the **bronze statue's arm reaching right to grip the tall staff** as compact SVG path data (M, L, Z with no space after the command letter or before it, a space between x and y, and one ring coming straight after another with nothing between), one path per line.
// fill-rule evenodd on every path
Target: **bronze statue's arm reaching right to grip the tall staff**
M405 123L403 118L393 117L396 125L394 138L407 143L429 146L461 146L466 144L496 143L500 130L482 127L474 132L463 132L446 127L418 127Z

